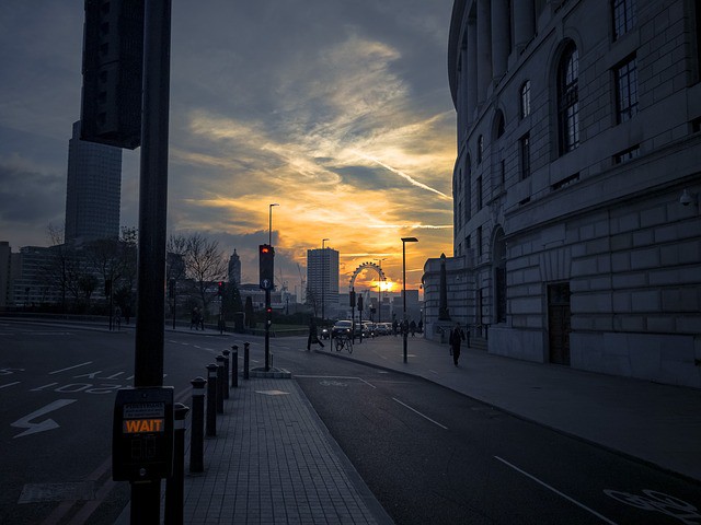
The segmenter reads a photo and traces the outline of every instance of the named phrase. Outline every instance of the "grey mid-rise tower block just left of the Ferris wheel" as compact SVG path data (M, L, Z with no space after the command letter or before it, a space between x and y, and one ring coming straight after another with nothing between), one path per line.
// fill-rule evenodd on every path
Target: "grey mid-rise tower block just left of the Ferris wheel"
M338 252L332 248L307 250L307 290L317 301L317 315L334 318L338 308ZM307 295L309 300L309 295Z

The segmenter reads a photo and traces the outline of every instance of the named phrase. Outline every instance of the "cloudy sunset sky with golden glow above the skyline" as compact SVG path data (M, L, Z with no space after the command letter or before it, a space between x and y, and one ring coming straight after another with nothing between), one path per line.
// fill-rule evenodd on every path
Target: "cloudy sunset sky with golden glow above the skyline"
M62 228L68 140L80 117L83 2L0 3L0 241ZM257 282L269 205L276 277L307 249L340 252L418 289L452 253L456 113L451 0L173 0L168 232L202 233ZM138 225L140 149L123 153L123 226ZM323 241L323 240L329 241ZM323 241L323 243L322 243ZM298 266L299 265L299 266ZM363 270L356 290L377 287ZM376 288L377 289L377 288Z

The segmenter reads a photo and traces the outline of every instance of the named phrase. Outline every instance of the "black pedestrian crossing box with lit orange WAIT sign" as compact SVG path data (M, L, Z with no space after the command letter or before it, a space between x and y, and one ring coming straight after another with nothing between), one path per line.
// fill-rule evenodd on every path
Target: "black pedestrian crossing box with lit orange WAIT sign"
M173 388L120 388L112 427L112 477L148 481L173 475Z

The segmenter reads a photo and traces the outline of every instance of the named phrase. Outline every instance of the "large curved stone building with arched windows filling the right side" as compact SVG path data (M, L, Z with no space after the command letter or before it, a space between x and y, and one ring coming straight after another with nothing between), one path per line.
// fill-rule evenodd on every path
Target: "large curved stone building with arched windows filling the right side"
M701 387L700 10L456 0L448 306L490 353Z

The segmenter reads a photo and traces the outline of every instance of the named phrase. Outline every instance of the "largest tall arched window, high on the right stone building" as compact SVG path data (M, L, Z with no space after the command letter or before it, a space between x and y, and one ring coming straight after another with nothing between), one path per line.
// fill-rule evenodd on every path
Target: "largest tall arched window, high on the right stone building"
M579 145L579 54L567 44L558 68L558 120L560 154Z

